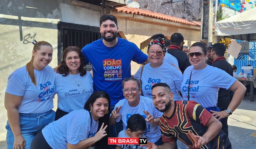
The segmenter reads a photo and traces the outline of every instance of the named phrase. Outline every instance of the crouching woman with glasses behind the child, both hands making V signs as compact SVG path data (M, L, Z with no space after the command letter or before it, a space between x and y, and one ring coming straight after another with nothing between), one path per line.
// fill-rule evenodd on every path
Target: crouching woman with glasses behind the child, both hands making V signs
M127 121L133 114L140 114L146 120L147 128L145 136L150 142L162 145L159 118L163 115L153 105L153 100L140 96L140 81L135 78L124 78L122 81L123 94L125 99L120 100L111 113L109 124L114 125L121 119L124 130L127 129ZM138 134L140 135L140 134Z

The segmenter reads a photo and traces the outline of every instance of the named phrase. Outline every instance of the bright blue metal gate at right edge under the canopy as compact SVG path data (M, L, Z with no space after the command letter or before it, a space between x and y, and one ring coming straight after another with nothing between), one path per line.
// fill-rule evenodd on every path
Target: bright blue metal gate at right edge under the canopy
M241 40L236 40L237 43L240 43ZM251 41L249 43L249 55L238 55L237 59L234 58L234 64L237 67L236 73L239 74L241 72L242 66L251 65L254 68L256 67L255 61L255 41Z

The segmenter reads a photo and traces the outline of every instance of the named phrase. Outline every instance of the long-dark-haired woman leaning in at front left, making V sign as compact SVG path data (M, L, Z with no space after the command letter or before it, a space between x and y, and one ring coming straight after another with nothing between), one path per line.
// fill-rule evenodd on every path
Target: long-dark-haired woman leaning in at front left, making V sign
M40 131L31 149L105 148L108 145L109 106L106 92L92 93L84 109L72 111Z

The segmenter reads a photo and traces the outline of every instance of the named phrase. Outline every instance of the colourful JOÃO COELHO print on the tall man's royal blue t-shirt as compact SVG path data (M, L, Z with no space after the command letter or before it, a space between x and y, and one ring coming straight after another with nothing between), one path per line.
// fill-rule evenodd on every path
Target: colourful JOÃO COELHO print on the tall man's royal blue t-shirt
M105 81L122 80L122 59L104 59L103 69Z

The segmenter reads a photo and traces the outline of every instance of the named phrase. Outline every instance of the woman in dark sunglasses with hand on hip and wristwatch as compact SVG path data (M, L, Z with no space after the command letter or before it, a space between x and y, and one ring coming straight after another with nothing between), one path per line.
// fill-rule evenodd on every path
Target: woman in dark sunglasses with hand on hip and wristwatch
M184 71L181 93L184 100L198 102L220 120L234 112L241 103L246 88L225 71L207 65L207 55L206 46L202 42L196 42L190 47L188 58L192 66ZM232 101L224 111L217 107L219 88L234 92Z

